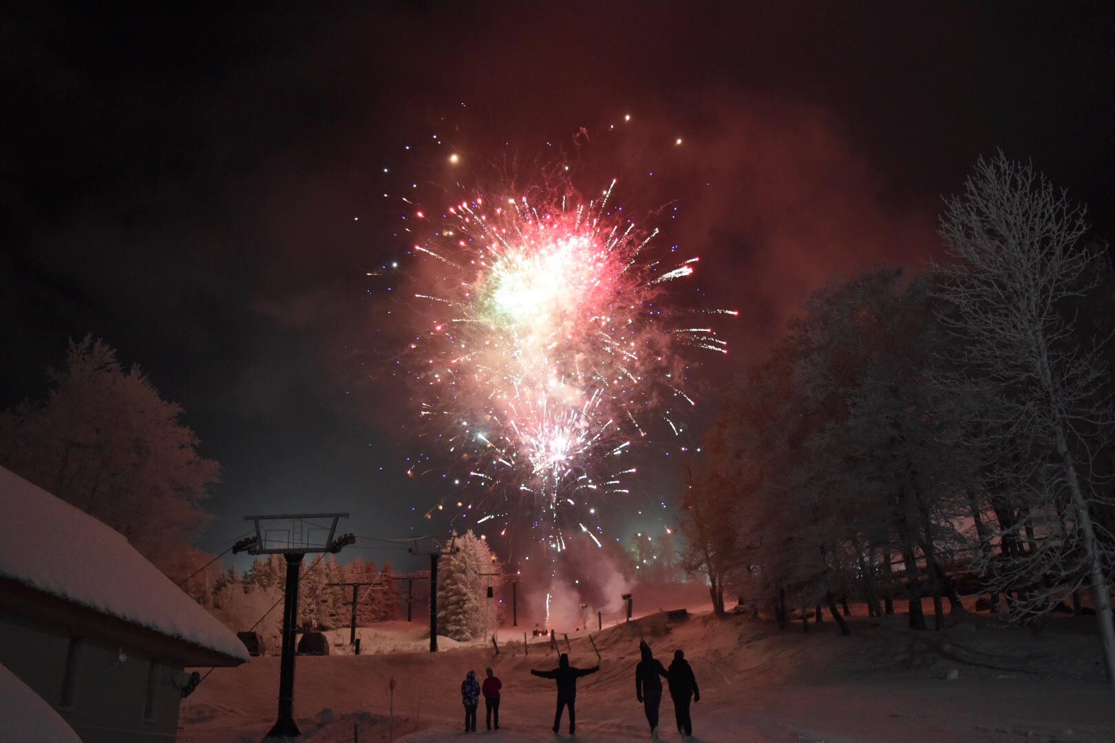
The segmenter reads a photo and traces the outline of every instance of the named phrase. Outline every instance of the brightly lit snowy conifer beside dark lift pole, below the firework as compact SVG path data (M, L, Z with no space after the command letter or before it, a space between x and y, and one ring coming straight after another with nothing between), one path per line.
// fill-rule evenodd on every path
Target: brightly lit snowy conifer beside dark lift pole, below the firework
M495 598L487 598L487 587L495 595L502 573L487 542L468 530L454 541L455 550L443 557L437 574L438 632L457 641L484 637L495 628L498 613Z

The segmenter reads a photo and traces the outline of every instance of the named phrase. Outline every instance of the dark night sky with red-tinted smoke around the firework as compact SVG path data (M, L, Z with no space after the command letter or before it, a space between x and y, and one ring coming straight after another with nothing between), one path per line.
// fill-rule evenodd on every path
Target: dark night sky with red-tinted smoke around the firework
M404 477L420 446L369 368L396 339L366 273L407 247L381 193L459 177L450 148L473 172L560 151L589 187L680 206L669 237L743 313L698 420L808 291L921 265L980 154L1032 158L1115 231L1109 3L227 4L0 21L0 404L104 338L221 462L214 551L246 512L428 528L443 483ZM672 495L660 469L622 529Z

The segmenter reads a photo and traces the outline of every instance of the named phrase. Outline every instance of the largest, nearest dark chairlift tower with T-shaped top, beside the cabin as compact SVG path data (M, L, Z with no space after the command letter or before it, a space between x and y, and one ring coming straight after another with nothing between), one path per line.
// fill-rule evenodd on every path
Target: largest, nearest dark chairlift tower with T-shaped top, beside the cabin
M351 534L337 536L337 522L348 514L280 514L245 516L255 535L237 542L249 555L282 555L287 559L287 593L282 610L282 658L279 664L279 718L264 743L302 740L294 724L294 637L298 633L298 581L307 554L339 553L356 541ZM234 549L233 551L240 551Z

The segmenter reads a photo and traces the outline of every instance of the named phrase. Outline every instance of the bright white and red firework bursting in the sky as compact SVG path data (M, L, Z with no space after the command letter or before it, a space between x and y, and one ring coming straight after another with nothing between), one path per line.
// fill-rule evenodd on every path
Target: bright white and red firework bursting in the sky
M476 196L444 209L413 246L423 325L405 354L420 414L485 492L561 550L588 534L602 501L627 493L626 461L653 418L678 432L687 348L725 352L694 317L731 311L670 306L667 286L698 258L656 257L612 185L533 203ZM667 255L671 255L667 253Z

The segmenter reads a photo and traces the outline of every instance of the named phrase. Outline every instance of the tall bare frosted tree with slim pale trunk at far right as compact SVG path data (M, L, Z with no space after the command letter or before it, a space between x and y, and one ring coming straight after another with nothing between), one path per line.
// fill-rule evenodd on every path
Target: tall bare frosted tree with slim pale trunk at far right
M1108 442L1109 370L1096 339L1082 343L1074 312L1094 286L1084 250L1085 211L1032 166L1000 151L980 160L962 195L947 201L941 235L950 261L935 265L941 322L962 356L943 381L988 404L975 412L973 448L992 491L1014 502L996 537L1010 550L980 561L992 585L1019 590L1015 618L1039 616L1089 584L1108 677L1115 627L1107 575L1112 535L1095 519L1108 499L1094 457Z

